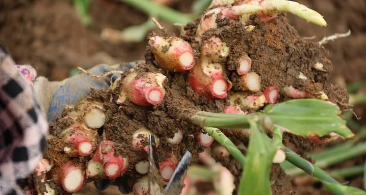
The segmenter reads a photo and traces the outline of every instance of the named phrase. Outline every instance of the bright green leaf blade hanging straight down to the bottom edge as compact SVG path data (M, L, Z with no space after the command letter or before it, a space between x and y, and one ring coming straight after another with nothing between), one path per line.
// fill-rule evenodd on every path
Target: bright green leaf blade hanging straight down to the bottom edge
M272 159L276 147L262 133L256 123L250 124L250 140L244 173L239 185L239 195L270 195Z

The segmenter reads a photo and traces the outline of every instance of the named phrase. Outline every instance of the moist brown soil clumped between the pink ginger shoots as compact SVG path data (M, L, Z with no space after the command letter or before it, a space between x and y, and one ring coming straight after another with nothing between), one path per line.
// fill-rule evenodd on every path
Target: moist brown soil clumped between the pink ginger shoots
M193 24L188 24L185 28L185 34L181 38L188 41L195 51L196 63L200 59L201 45L195 41L196 28L199 20ZM296 30L287 23L284 15L280 15L271 23L262 22L259 18L253 16L248 25L255 25L255 29L246 32L244 25L239 21L228 22L226 20L218 21L219 27L207 31L203 40L212 36L219 37L230 47L229 57L222 62L227 73L227 79L233 82L233 88L228 97L235 91L240 91L236 86L236 80L239 75L235 71L236 60L244 54L247 54L252 60L251 71L256 72L262 78L261 90L256 95L262 94L261 91L268 86L275 86L280 89L280 96L277 102L287 100L283 88L292 85L293 87L308 91L313 98L318 98L319 93L324 91L329 100L337 103L341 108L346 108L348 96L345 89L327 83L327 79L332 72L332 64L327 59L326 51L318 43L311 40L302 39ZM142 177L134 167L141 160L147 159L145 152L135 152L132 150L132 134L138 129L145 127L160 138L158 153L161 160L174 155L180 159L184 152L189 150L194 156L203 151L203 147L194 139L194 135L203 131L200 127L193 125L189 117L196 111L223 112L226 105L226 99L207 100L195 93L186 82L188 73L168 73L159 69L154 62L154 56L150 49L146 50L146 62L136 68L139 74L152 72L162 73L167 77L164 88L166 95L163 102L157 106L142 107L126 101L123 105L116 104L120 87L112 91L92 91L90 98L100 100L104 104L106 122L100 129L99 141L105 137L107 140L114 141L117 154L121 154L129 159L129 170L125 175L132 179ZM312 65L320 62L324 64L326 71L312 69ZM307 79L300 79L302 73ZM125 77L127 73L122 74ZM121 79L122 80L122 79ZM122 81L120 80L120 85ZM243 111L254 112L248 108L242 108ZM62 161L69 159L62 154L63 143L56 135L62 128L69 123L59 117L50 125L51 134L54 138L49 139L45 157L58 160L56 165L60 166ZM173 137L178 130L183 133L183 140L180 144L173 145L166 141L166 138ZM244 140L244 137L235 136ZM314 148L313 143L305 138L289 140L295 142L296 146L303 150ZM147 144L147 141L146 141ZM317 144L315 144L316 146ZM74 158L74 161L87 163L90 157ZM230 161L228 161L230 159ZM219 159L237 179L240 178L242 168L232 163L231 158ZM271 178L275 181L272 187L273 194L290 194L288 186L289 179L280 170L279 166L273 166ZM281 182L277 182L281 180ZM287 182L285 182L287 181ZM281 185L276 185L281 183ZM288 184L288 185L287 185Z

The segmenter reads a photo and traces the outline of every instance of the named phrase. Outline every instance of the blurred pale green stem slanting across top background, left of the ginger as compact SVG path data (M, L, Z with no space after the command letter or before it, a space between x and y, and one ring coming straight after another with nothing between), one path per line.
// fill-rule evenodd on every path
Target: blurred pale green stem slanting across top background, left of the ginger
M183 14L169 7L159 5L151 0L121 0L124 3L132 5L149 16L157 16L170 23L187 24L194 20L189 14Z

